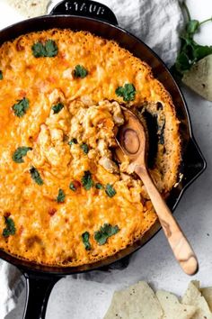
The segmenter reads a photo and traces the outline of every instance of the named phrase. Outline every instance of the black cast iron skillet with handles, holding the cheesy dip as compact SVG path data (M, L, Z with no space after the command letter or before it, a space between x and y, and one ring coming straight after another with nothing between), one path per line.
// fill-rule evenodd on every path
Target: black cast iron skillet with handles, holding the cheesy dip
M93 32L93 34L97 34L106 39L117 41L121 47L128 49L138 58L145 60L153 68L155 77L157 77L170 92L178 118L181 121L183 163L181 172L184 174L181 183L178 187L173 188L168 198L168 205L173 211L179 203L185 188L206 169L206 161L194 140L190 126L190 116L186 103L181 95L181 90L172 78L169 70L163 64L163 61L159 59L155 52L148 48L145 43L119 28L115 15L107 6L93 1L83 0L63 1L58 4L48 16L41 16L23 21L22 23L13 24L0 32L0 45L4 43L4 41L13 40L24 33L48 30L50 28L83 30ZM17 266L26 278L27 297L23 318L45 318L50 291L60 278L83 271L107 267L111 263L128 256L133 251L137 251L137 249L149 241L159 229L159 223L155 223L142 239L125 250L119 251L114 256L105 260L74 268L40 266L28 261L19 260L4 251L0 251L0 258Z

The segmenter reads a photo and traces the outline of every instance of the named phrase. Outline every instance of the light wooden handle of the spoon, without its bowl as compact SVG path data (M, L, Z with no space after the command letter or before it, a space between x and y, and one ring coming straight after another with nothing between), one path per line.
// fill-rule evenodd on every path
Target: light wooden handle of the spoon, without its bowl
M155 207L159 221L163 227L165 236L172 248L173 254L181 265L181 269L188 275L193 275L198 271L197 257L190 247L190 243L181 231L179 224L174 219L169 207L163 201L162 196L155 187L152 178L146 168L137 166L135 172L143 181L146 191Z

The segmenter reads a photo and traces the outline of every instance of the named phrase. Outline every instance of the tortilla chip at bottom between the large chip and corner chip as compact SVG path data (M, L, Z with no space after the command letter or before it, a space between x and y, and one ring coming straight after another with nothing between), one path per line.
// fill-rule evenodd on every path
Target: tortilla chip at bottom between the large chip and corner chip
M194 305L181 305L177 296L167 291L158 290L156 296L163 309L163 319L190 319L197 310Z

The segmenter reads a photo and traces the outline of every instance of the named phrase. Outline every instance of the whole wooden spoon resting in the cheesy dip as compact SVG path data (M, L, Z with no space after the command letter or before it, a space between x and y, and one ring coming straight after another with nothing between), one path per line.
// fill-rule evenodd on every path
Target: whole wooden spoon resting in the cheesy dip
M172 212L165 204L162 196L155 187L155 184L148 173L146 167L146 133L142 123L137 116L122 107L125 123L119 127L116 140L120 149L130 160L130 169L137 173L143 181L146 191L155 207L155 212L163 227L163 232L172 248L172 252L181 265L181 269L188 275L193 275L198 271L197 257L190 247L190 243L181 231L179 224L172 216ZM121 150L116 149L116 155L120 161L123 160Z

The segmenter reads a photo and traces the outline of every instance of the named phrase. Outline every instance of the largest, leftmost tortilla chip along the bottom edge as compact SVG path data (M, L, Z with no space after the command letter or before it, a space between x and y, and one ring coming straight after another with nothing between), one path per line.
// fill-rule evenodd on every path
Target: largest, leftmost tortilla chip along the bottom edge
M154 291L140 281L125 290L115 292L104 319L162 319L163 310Z

